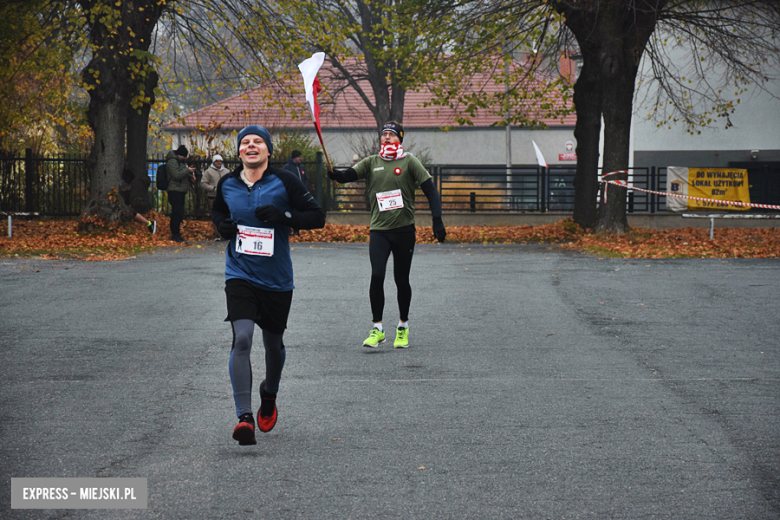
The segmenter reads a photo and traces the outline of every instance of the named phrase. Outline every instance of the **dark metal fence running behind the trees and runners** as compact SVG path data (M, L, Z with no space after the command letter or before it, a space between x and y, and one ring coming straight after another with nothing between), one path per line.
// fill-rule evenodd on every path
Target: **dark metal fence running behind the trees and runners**
M165 162L160 156L147 160L152 180L149 203L152 209L168 212L167 194L156 189L157 168ZM191 158L200 182L201 172L210 166L205 158ZM0 212L39 213L50 216L76 216L89 198L89 173L84 157L35 157L30 150L24 157L0 155ZM236 159L226 160L233 169ZM282 167L284 163L271 163ZM305 162L309 173L309 190L328 211L368 211L365 183L358 181L334 186L324 173L321 154L317 161ZM575 168L535 165L432 165L428 170L442 199L445 212L570 212L574 209ZM653 191L666 190L666 168L634 168L630 184ZM417 190L415 204L427 209L428 200ZM666 210L666 197L642 192L628 192L629 213L656 213ZM207 218L208 200L199 188L190 190L185 216Z

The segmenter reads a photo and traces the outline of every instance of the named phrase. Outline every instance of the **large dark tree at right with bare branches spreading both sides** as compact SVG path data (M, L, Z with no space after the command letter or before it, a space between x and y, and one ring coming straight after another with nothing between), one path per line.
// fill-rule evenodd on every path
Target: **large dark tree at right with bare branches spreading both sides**
M575 221L596 231L625 232L625 189L596 208L599 131L604 120L605 172L628 166L631 114L641 79L659 123L691 132L724 121L748 88L777 74L780 2L775 0L430 0L432 9L463 9L477 27L506 20L506 37L537 42L548 56L578 49ZM544 34L552 38L542 37ZM574 36L572 41L571 36ZM572 45L574 44L574 45ZM648 77L639 77L642 60ZM734 95L731 95L734 93ZM620 176L613 177L619 179Z

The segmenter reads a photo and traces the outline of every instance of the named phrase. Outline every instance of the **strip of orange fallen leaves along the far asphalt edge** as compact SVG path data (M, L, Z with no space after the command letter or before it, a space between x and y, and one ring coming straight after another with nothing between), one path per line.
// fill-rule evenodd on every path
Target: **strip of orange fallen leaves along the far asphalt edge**
M78 230L78 222L15 220L13 237L0 237L0 256L36 256L44 259L81 258L86 261L121 260L155 247L194 247L211 241L211 222L185 221L182 235L189 245L169 240L169 219L154 213L158 232L152 236L137 222L108 226L100 231ZM332 225L301 231L295 242L368 242L368 226ZM417 242L435 243L430 227L417 228ZM778 258L780 229L634 229L624 235L593 235L571 219L543 226L450 226L447 242L466 244L558 244L600 256L625 258Z

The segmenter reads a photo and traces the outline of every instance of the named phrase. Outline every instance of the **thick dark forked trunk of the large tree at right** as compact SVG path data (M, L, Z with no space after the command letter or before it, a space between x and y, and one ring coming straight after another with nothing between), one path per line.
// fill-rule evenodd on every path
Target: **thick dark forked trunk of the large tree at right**
M584 58L580 79L574 89L577 108L577 174L575 176L575 221L589 227L593 189L597 171L600 117L604 116L604 172L628 168L631 114L639 61L647 40L653 34L658 14L667 0L639 4L631 0L593 0L564 2L553 0L553 8L565 16L566 26L580 45ZM596 52L593 52L596 50ZM593 65L591 68L590 65ZM598 93L591 92L595 89ZM600 100L595 98L600 95ZM598 114L596 108L598 107ZM584 119L584 122L581 121ZM597 122L596 120L599 119ZM608 179L625 180L627 174ZM625 233L630 230L626 217L626 189L610 185L609 197L599 197L598 220L593 232Z

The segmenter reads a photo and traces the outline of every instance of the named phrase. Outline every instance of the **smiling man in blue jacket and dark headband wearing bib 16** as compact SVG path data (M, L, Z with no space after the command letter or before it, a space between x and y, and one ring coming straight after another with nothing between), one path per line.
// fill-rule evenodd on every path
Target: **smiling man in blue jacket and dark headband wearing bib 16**
M282 336L293 293L290 229L325 226L325 213L300 179L268 163L273 143L268 130L247 126L238 134L242 165L220 179L211 209L219 233L230 240L225 259L227 320L233 327L228 368L238 424L233 438L257 444L252 416L252 335L263 331L265 379L260 383L257 427L276 424L276 394L286 358Z

